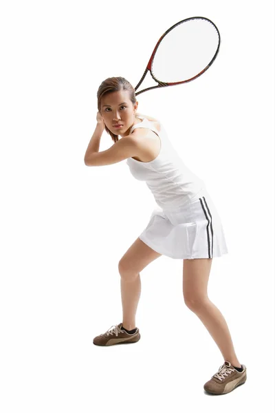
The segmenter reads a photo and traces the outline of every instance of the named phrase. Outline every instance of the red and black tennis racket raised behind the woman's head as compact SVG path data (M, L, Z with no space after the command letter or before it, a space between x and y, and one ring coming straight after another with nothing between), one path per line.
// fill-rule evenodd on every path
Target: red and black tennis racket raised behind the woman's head
M157 85L146 87L135 96L156 87L187 83L201 76L216 59L220 42L217 26L206 17L190 17L174 24L155 45L135 91L147 72Z

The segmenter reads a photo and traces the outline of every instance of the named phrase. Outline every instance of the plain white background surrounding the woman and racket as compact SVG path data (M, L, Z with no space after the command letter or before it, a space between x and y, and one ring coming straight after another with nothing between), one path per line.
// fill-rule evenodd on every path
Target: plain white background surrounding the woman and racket
M92 343L122 321L118 262L155 208L126 160L85 166L96 92L109 76L135 87L159 37L193 16L219 28L217 60L137 100L223 223L229 254L208 293L248 380L217 398L203 384L223 357L184 304L181 260L142 271L139 343ZM1 1L0 35L1 412L273 412L272 2ZM104 132L100 150L111 145Z

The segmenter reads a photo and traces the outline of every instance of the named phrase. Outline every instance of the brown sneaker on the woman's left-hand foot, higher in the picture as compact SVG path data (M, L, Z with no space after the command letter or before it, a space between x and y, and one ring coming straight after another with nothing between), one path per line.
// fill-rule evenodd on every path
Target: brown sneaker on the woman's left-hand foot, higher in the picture
M138 328L136 332L129 334L128 332L122 330L121 327L122 323L112 328L111 331L109 331L109 328L109 330L104 332L104 334L100 334L95 337L93 343L96 344L96 346L113 346L114 344L136 343L139 341L140 330Z

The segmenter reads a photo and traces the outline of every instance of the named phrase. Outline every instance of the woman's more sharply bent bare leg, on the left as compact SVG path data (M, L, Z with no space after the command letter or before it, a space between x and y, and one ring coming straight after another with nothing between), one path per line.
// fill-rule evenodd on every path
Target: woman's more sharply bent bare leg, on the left
M135 328L135 313L141 293L140 271L161 255L137 238L118 264L123 311L122 326L126 330Z

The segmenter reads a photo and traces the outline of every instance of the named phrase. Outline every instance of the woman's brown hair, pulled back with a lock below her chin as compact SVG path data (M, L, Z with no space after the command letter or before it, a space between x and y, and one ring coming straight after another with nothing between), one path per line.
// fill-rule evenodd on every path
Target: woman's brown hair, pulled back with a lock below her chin
M111 92L119 92L120 90L128 90L129 91L129 98L131 100L131 103L133 103L133 105L135 105L136 103L136 98L135 98L135 89L133 88L133 86L131 85L131 83L129 83L129 81L126 81L125 78L122 78L120 76L118 77L111 77L111 78L107 78L105 79L100 87L98 87L98 93L97 93L97 97L98 97L98 112L100 112L100 106L101 106L101 99L103 96L105 96L108 93ZM105 125L105 131L107 131L107 134L111 135L111 138L113 139L113 142L117 142L118 141L118 135L113 134L113 132L111 132L107 126Z

